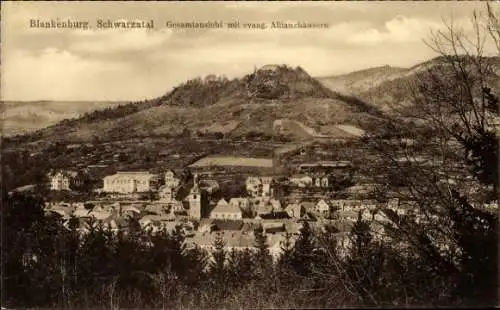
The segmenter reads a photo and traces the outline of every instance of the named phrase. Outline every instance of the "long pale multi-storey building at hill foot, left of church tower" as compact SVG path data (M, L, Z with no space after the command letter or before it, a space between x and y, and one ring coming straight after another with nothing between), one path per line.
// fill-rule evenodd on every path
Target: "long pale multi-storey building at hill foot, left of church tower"
M158 176L149 172L117 172L104 177L103 191L107 193L141 193L156 190Z

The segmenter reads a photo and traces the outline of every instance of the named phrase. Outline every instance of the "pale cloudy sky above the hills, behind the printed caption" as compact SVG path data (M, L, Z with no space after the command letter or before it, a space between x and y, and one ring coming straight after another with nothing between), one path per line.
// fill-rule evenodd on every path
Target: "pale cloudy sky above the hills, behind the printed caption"
M494 4L494 8L499 8ZM410 67L445 22L470 33L481 2L6 2L1 10L2 100L154 98L208 74L241 77L265 64L312 76ZM88 21L91 29L30 28L30 19ZM154 20L154 29L98 29L102 20ZM325 23L322 29L171 29L167 21Z

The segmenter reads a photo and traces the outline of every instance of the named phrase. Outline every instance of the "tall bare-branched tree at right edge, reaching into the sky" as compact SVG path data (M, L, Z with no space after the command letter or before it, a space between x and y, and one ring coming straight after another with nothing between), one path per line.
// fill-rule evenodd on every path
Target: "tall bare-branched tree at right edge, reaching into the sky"
M436 304L495 302L497 216L480 208L498 194L498 64L486 57L485 46L499 36L496 14L487 7L486 19L473 15L472 39L452 23L432 34L427 44L440 57L408 82L411 105L399 106L388 121L399 137L369 139L385 167L377 178L385 185L380 200L396 196L400 209L415 213L383 208L390 219L384 229L393 248L404 248L405 259L420 266L411 281L426 274L434 279L414 296ZM496 24L495 31L485 24ZM407 126L409 117L418 129Z

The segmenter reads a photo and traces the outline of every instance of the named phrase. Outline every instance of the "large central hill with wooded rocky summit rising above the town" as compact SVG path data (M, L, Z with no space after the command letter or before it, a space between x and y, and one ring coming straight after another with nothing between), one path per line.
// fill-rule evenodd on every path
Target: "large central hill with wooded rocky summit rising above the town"
M328 89L300 67L268 65L240 79L192 79L159 98L64 120L28 140L76 143L182 134L271 138L277 134L277 119L298 121L319 134L346 136L334 127L362 128L378 117L376 109ZM286 139L307 139L303 133L293 134L298 130L291 132Z

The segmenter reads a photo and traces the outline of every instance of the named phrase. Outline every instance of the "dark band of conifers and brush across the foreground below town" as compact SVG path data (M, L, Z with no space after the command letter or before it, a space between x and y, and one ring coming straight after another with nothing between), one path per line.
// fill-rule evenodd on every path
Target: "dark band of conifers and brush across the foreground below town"
M126 233L96 225L81 235L76 219L63 225L59 217L43 214L42 202L40 197L20 194L3 197L2 304L7 307L460 305L478 301L476 291L470 290L479 284L474 278L477 266L484 265L485 280L496 275L487 269L487 257L471 251L460 268L464 277L473 277L472 282L457 279L450 263L429 263L435 255L431 248L425 255L398 248L395 240L402 230L388 231L391 240L379 238L361 216L345 238L339 238L335 227L318 231L305 222L298 236L285 236L282 254L273 260L262 227L253 232L254 250L227 250L224 235L218 235L209 253L187 247L180 229L152 234L135 220L130 220ZM456 222L463 225L461 231L471 231L474 224L465 219ZM464 249L493 246L481 243L484 235L463 238L477 242L464 244ZM492 305L494 288L482 292L483 305Z

